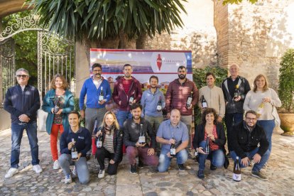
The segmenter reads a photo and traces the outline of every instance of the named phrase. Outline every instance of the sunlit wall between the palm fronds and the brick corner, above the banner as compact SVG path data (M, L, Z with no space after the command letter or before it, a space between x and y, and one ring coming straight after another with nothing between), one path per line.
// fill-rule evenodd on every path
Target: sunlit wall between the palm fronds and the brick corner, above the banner
M184 28L157 35L146 40L146 49L192 50L192 65L217 65L217 32L214 28L213 1L197 0L183 3L187 14L182 13Z

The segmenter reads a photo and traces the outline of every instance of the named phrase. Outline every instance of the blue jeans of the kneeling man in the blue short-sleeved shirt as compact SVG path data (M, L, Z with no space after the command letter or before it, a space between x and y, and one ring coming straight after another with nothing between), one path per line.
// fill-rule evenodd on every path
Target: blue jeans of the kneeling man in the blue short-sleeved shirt
M159 156L159 165L158 165L159 172L166 172L168 170L168 167L170 167L170 160L172 158L169 158L168 156L166 156L168 152L170 152L170 149L161 148L160 156ZM184 164L187 160L187 150L184 149L176 153L175 157L177 158L178 164Z

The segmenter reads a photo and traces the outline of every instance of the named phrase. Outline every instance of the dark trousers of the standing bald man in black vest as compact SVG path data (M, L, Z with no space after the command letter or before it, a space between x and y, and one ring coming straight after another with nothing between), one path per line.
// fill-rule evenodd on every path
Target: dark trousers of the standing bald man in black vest
M228 150L233 151L232 147L232 126L234 124L238 124L239 122L243 121L243 113L233 113L233 114L227 114L224 116L224 123L227 127L227 140L228 140Z

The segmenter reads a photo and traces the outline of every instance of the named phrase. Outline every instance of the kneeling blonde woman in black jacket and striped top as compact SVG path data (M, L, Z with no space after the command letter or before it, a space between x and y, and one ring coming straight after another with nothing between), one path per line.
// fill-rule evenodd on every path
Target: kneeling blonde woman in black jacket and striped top
M97 145L96 151L96 158L100 165L98 178L104 178L105 158L109 158L107 173L109 175L116 174L119 163L122 160L123 132L119 129L119 122L112 111L107 111L102 125L95 129L94 134L96 136L96 144L98 144L98 137L102 138L102 146Z

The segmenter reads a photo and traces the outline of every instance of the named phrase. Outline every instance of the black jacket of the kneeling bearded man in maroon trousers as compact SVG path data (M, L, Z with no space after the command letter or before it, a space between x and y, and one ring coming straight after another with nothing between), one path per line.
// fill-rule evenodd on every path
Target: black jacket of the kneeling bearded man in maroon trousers
M146 136L146 148L156 148L156 133L153 130L151 124L141 117L141 124L143 124L143 133ZM136 146L138 137L140 136L141 126L136 124L133 119L126 119L124 121L124 145ZM149 143L151 141L151 146Z

